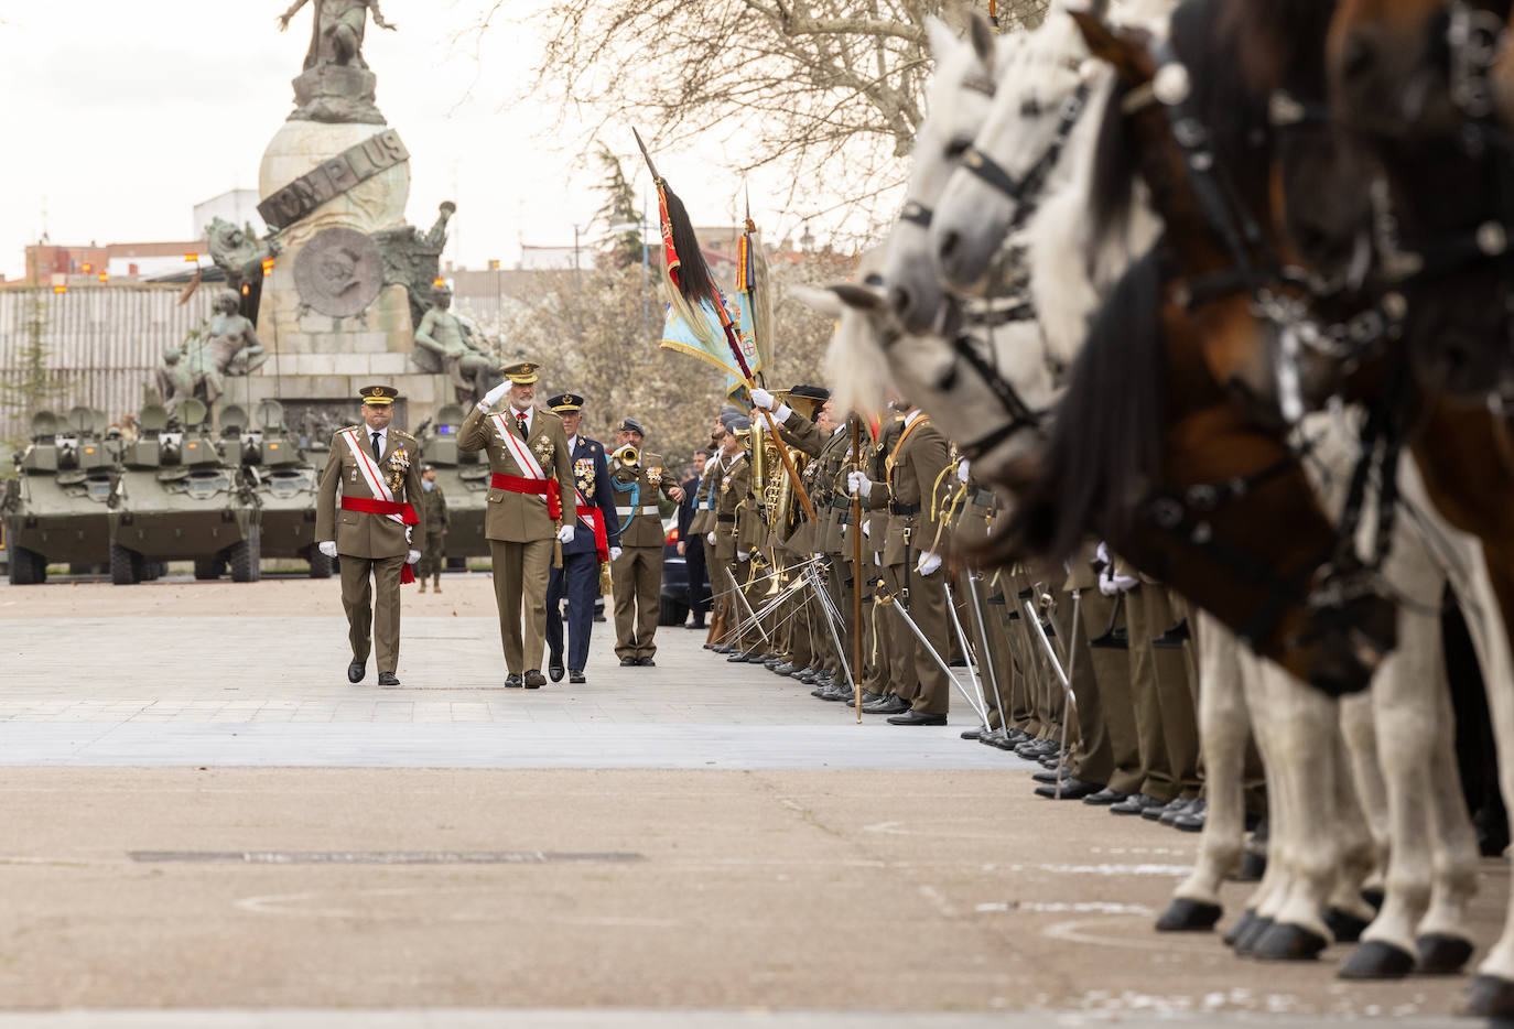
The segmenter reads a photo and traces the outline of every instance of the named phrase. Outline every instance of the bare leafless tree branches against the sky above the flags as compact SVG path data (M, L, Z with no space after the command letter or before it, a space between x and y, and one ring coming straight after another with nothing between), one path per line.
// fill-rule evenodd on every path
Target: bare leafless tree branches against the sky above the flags
M987 14L987 0L974 6ZM1011 30L1039 24L1046 0L998 8ZM488 0L480 30L503 9ZM877 215L877 201L892 203L904 180L925 115L928 15L961 23L955 0L550 5L533 18L545 45L531 97L597 110L603 123L637 123L662 148L695 138L731 144L734 171L784 173L789 209Z

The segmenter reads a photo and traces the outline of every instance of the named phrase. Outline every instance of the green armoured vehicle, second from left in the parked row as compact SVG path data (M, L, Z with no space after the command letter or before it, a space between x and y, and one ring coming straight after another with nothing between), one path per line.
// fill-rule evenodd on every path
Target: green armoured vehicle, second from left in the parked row
M257 580L257 498L233 446L209 430L206 406L186 399L176 415L142 409L141 437L121 448L111 495L111 581L139 583L154 561L223 560L236 583ZM200 567L197 564L197 567Z

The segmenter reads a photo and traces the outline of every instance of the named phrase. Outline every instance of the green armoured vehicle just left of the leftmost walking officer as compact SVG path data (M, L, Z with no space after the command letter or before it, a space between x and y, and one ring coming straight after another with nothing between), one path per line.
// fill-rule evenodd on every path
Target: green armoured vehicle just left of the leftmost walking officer
M321 466L309 460L289 433L283 404L265 399L257 406L256 415L257 428L245 431L247 416L239 407L223 410L221 434L241 440L242 468L257 495L262 555L295 557L309 563L310 578L330 578L332 558L315 546L315 499L321 486ZM198 566L195 575L198 577Z

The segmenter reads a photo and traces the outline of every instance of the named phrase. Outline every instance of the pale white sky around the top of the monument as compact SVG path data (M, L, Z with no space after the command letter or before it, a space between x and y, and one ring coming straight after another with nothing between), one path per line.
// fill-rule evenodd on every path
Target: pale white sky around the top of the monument
M507 8L521 17L547 2ZM409 219L428 228L438 204L456 201L444 260L465 268L512 266L522 241L572 245L574 225L603 203L598 163L580 153L598 118L560 123L556 104L522 98L539 42L521 24L466 32L484 3L383 0L400 30L369 24L363 48L378 109L410 151ZM0 0L0 274L20 277L42 232L70 245L186 239L194 204L254 189L263 148L294 109L310 6L280 33L279 0ZM646 195L630 129L612 133L606 142ZM696 224L734 218L740 183L719 150L656 157ZM798 218L766 195L754 179L766 238L798 236ZM656 201L648 213L656 219Z

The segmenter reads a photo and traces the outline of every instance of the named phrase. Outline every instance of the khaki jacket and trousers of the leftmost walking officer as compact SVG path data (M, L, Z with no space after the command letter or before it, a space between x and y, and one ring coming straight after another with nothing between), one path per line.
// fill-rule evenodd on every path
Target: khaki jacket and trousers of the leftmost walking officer
M363 452L369 452L371 434L366 425L344 428L332 437L315 507L315 539L336 540L353 663L366 664L369 648L374 646L378 651L378 672L392 673L400 666L400 577L412 540L425 539L425 504L416 508L418 521L413 527L388 514L341 510L344 496L385 499L374 496L357 465L359 459L344 439L351 431L357 433ZM377 465L395 502L418 504L422 492L421 445L413 436L391 425Z

